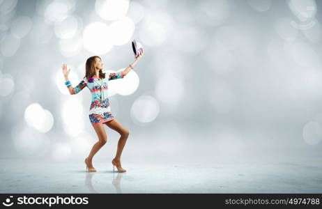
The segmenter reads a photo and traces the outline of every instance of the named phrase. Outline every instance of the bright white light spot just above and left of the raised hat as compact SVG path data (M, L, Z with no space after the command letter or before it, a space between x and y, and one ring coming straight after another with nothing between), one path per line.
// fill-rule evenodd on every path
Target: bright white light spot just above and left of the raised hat
M109 26L112 32L113 45L124 45L132 38L135 31L135 23L128 17L116 20Z

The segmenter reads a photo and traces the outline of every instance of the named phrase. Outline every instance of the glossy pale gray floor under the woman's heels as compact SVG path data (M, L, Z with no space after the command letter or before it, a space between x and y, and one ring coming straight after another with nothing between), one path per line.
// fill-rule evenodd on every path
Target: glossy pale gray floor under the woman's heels
M321 158L275 162L130 162L113 173L110 160L96 160L95 173L82 160L0 160L1 193L322 193ZM229 162L230 161L230 162Z

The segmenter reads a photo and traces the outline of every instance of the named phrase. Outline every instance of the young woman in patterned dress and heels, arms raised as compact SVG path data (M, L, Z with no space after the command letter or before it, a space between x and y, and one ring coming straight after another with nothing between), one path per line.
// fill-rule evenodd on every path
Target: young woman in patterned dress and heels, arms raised
M125 70L122 70L121 72L109 73L107 75L105 72L102 72L102 59L100 59L99 56L91 56L86 61L86 75L75 87L72 87L72 84L70 84L68 79L70 69L67 70L66 64L63 64L62 66L63 75L66 80L65 84L71 95L79 93L79 91L82 91L85 86L89 88L92 95L91 107L89 109L89 120L91 121L96 134L98 134L98 142L93 145L89 156L85 158L86 171L96 171L92 163L93 157L95 153L97 153L98 150L100 150L100 148L102 148L102 146L104 146L107 142L107 134L103 124L121 134L121 137L118 140L116 156L112 160L112 164L113 171L114 167L116 167L118 172L126 171L121 166L121 154L130 133L128 129L118 122L118 120L114 118L111 113L111 107L109 107L109 98L107 98L107 83L109 80L121 79L127 75L128 72L134 68L137 61L139 61L143 54L144 50L142 49L135 58L135 61L125 68Z

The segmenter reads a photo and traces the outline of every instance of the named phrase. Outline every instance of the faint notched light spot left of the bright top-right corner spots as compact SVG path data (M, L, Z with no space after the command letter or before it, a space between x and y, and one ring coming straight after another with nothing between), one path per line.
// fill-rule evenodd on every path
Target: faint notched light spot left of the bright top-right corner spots
M281 17L275 24L275 30L284 40L295 40L298 35L298 29L291 25L291 18Z

